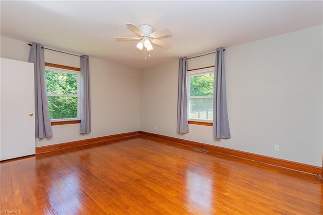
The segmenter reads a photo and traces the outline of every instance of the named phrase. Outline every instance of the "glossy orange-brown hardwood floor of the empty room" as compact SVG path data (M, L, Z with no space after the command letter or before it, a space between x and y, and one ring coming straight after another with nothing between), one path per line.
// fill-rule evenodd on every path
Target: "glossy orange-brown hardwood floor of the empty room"
M0 168L4 214L323 214L313 175L144 136Z

